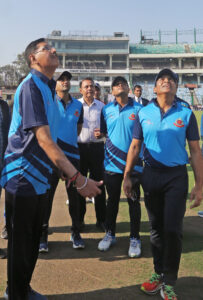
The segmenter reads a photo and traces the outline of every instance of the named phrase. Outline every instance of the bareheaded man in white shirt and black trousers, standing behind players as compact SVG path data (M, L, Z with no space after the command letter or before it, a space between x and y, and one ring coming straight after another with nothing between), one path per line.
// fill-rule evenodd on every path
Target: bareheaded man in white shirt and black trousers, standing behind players
M89 173L90 178L102 180L104 169L104 138L99 137L100 115L104 106L99 100L94 98L95 85L92 78L87 77L80 82L79 99L83 105L84 117L82 131L78 137L80 151L80 171L84 176ZM104 185L101 187L101 194L95 197L96 226L105 231L106 217L106 196ZM84 226L84 216L86 213L85 198L80 196L80 222Z

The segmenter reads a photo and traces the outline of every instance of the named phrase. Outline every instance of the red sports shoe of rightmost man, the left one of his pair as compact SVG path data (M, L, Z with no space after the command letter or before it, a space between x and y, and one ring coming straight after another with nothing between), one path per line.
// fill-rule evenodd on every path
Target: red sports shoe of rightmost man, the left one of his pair
M161 289L162 285L162 276L153 273L151 278L141 285L141 290L148 295L154 295Z

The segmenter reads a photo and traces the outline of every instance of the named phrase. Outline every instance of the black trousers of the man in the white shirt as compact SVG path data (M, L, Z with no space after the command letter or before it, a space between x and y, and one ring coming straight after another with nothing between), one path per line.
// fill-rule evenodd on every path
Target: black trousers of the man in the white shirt
M78 143L80 151L80 172L96 181L104 178L104 143ZM101 194L95 197L95 212L97 222L104 222L106 218L106 195L104 185L100 186ZM84 221L86 201L80 197L80 221Z

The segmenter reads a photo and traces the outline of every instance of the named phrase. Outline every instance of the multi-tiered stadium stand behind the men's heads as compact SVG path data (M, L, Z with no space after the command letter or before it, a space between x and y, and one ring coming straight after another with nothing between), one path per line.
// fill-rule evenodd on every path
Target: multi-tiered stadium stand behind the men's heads
M132 88L143 86L143 96L153 97L156 74L162 68L171 68L178 73L178 94L192 104L203 102L203 42L198 38L203 30L174 32L142 32L140 41L131 44L128 35L115 32L111 36L94 32L69 32L63 35L54 30L47 36L56 48L60 65L56 70L68 70L73 75L71 92L79 96L79 81L92 77L103 87L104 97L110 93L112 79L124 76ZM183 35L190 42L180 41ZM164 40L166 39L166 40Z

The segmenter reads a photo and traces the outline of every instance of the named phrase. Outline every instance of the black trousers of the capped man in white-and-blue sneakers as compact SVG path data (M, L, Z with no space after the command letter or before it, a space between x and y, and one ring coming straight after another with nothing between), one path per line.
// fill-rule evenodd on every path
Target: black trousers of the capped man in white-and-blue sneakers
M123 174L105 172L105 185L108 193L107 213L106 213L106 230L111 231L112 235L116 232L116 218L118 215L119 201L121 195L121 186ZM138 179L136 177L136 179ZM130 237L140 238L140 183L135 180L133 185L134 198L128 198L129 215L130 215Z

